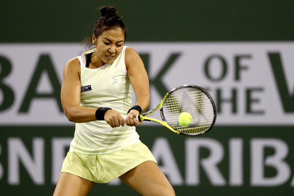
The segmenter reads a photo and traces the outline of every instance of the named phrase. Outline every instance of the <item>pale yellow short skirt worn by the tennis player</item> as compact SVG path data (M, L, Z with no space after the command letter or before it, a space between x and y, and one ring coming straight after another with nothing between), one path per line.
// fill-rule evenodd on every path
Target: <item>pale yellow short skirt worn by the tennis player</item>
M61 172L72 173L93 182L107 183L145 161L157 164L151 151L142 142L108 154L87 155L69 151Z

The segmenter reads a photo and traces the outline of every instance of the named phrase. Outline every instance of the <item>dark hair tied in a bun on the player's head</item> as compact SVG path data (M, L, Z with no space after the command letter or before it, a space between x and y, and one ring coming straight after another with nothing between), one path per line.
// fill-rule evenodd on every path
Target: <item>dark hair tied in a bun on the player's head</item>
M113 6L104 6L100 8L101 18L97 21L93 34L98 38L103 32L110 29L119 29L121 28L124 32L124 39L126 37L126 27L122 21L122 17L118 15L116 8ZM92 34L92 35L93 35ZM87 48L93 46L92 36L86 38L84 42L87 45Z

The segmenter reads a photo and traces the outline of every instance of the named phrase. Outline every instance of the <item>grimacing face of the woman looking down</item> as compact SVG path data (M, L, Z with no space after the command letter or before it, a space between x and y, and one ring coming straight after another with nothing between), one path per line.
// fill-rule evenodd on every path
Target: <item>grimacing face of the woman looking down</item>
M96 53L101 63L112 63L122 52L124 45L124 32L121 28L104 31L98 39L93 35L96 44Z

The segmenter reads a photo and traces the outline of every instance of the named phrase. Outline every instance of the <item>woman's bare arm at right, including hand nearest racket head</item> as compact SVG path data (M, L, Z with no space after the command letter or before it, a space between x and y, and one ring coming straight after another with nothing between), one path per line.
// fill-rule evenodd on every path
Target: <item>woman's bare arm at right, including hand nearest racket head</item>
M136 104L145 111L150 102L149 79L144 67L144 63L139 54L132 48L127 47L124 57L127 75L136 94ZM134 120L139 115L138 110L131 110L126 118L127 125L140 125L141 123Z

